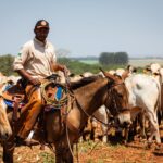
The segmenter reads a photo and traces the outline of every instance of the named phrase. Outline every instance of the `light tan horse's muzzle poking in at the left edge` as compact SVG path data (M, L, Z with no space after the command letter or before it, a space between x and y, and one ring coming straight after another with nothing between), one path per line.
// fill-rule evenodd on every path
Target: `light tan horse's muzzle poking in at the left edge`
M0 139L7 140L12 135L12 129L7 115L7 105L0 98Z

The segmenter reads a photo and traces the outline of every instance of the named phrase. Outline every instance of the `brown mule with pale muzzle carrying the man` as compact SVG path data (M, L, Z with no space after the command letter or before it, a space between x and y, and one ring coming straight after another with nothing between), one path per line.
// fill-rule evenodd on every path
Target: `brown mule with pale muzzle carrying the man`
M105 78L95 79L73 90L75 98L66 115L61 117L59 110L45 113L46 141L54 145L57 163L73 162L73 143L80 137L88 117L102 104L118 117L121 124L130 123L128 92L123 79L108 73L104 75ZM3 145L4 163L13 162L13 139L14 135Z

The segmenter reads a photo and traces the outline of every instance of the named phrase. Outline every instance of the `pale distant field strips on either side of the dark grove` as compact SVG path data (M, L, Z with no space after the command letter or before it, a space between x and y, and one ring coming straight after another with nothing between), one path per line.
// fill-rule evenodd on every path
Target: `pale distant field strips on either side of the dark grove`
M87 64L98 63L98 60L79 60L79 61ZM130 59L128 64L136 67L143 67L146 65L149 65L150 63L159 63L163 66L163 59Z

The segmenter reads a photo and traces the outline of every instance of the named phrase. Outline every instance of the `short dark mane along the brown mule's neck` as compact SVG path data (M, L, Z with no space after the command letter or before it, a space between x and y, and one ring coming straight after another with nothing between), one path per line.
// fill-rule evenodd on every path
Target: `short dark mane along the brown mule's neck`
M75 89L80 88L83 86L86 86L86 85L88 85L88 84L90 84L90 83L92 83L92 82L95 82L99 78L102 78L102 76L100 76L100 75L97 76L96 75L96 76L90 76L90 77L84 77L78 82L72 82L71 83L71 89L75 90Z

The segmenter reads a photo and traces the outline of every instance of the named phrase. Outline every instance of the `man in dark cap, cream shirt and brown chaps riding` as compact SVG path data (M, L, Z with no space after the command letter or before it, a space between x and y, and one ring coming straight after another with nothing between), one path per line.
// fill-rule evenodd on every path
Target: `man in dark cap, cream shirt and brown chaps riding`
M38 87L41 84L40 80L52 75L55 71L66 71L65 66L57 63L54 48L47 40L49 29L49 23L46 20L39 20L34 28L35 38L22 47L13 63L14 71L27 83L26 95L30 95L28 103L23 108L23 111L27 111L27 116L25 116L25 121L23 120L25 123L17 134L21 139L25 139L28 136L42 109ZM30 91L34 87L36 89Z

